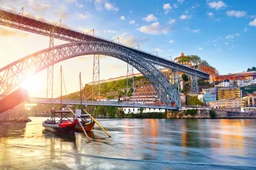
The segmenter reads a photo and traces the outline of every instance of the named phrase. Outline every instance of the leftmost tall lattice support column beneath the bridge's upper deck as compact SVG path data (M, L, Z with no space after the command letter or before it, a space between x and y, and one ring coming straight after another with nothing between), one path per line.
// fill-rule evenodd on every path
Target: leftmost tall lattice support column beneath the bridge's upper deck
M54 46L54 29L51 30L51 36L49 39L49 48ZM47 57L47 63L51 63L54 61L54 50L51 50ZM50 56L52 56L52 58L49 58ZM47 89L46 89L46 98L50 97L51 99L53 97L53 65L49 66L47 68Z

